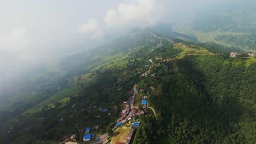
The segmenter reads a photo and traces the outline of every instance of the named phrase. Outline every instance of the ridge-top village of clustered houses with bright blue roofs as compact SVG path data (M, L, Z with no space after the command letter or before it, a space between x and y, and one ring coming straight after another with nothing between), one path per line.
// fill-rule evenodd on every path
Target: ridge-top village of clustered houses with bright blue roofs
M145 66L148 67L148 66ZM152 74L152 76L154 76L155 74ZM147 74L143 73L141 76L143 77L147 77ZM121 79L118 80L118 82L120 82ZM150 89L154 89L153 86L149 87ZM140 88L140 89L136 89L136 84L133 86L133 90L131 90L131 97L129 98L128 101L124 101L121 108L123 108L123 110L121 110L120 113L120 117L117 119L116 124L114 125L114 127L112 128L112 131L118 131L120 129L125 129L125 134L123 137L119 137L118 140L115 139L115 132L112 141L108 140L109 135L108 134L104 134L104 135L96 135L94 133L94 131L91 130L98 130L99 126L95 125L94 127L86 127L85 129L80 129L79 132L83 133L83 141L85 143L90 143L90 141L92 144L96 144L96 143L125 143L125 144L129 144L131 143L131 140L133 138L133 135L135 133L135 129L136 127L139 127L140 125L140 121L139 121L139 116L144 114L144 111L148 110L148 109L152 109L151 107L147 107L147 99L149 98L150 95L150 91L145 92L145 89ZM135 103L135 96L138 95L138 97L142 98L141 100L141 107L135 107L133 104ZM143 95L143 96L141 96ZM136 103L138 103L138 101L136 101ZM74 108L75 104L71 106L71 108ZM97 109L98 108L98 109ZM108 112L108 109L106 107L88 107L88 109L97 109L103 113ZM113 110L117 111L118 106L114 106ZM80 111L85 111L85 109L81 109ZM154 113L155 114L155 113ZM110 112L108 113L108 115L110 115ZM146 115L147 116L147 115ZM152 113L150 113L148 116L153 116ZM101 118L101 115L99 114L94 114L93 117L95 118ZM61 118L59 121L62 121L63 118ZM75 142L74 139L75 135L66 135L65 137L63 137L63 143L67 143L67 144L75 144L77 142Z

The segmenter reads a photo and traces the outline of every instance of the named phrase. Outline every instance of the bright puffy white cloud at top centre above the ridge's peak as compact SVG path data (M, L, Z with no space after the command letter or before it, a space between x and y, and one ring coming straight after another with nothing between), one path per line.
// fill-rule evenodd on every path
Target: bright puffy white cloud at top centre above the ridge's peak
M135 0L131 4L120 3L117 10L110 9L104 17L107 27L154 25L165 14L163 3L156 0Z

